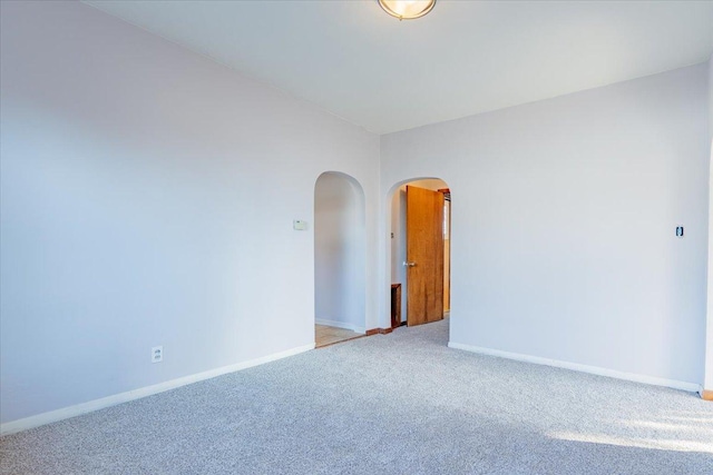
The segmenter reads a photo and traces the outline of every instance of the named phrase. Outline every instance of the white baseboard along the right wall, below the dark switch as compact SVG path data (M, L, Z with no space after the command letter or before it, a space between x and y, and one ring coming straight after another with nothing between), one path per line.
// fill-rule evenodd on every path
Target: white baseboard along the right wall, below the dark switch
M463 349L466 352L478 353L488 356L498 356L500 358L515 359L517 362L533 363L536 365L554 366L556 368L573 369L580 373L589 373L598 376L607 376L616 379L625 379L634 383L649 384L653 386L665 386L674 389L686 390L690 393L699 393L702 390L701 385L695 383L686 383L675 379L657 378L654 376L638 375L635 373L617 372L615 369L600 368L598 366L580 365L577 363L563 362L559 359L541 358L538 356L521 355L519 353L501 352L499 349L482 348L479 346L463 345L461 343L448 342L449 348Z

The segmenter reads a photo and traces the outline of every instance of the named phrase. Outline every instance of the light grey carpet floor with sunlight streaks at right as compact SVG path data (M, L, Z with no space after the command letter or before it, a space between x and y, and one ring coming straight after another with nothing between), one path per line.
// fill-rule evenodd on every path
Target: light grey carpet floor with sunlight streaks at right
M2 474L713 474L696 395L359 338L0 438Z

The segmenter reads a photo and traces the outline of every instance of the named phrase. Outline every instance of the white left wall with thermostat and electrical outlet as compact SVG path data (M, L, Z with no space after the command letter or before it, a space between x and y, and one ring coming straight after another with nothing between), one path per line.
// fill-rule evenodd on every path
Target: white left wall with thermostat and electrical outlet
M379 137L90 7L1 4L2 423L313 345L292 220L349 174L374 256Z

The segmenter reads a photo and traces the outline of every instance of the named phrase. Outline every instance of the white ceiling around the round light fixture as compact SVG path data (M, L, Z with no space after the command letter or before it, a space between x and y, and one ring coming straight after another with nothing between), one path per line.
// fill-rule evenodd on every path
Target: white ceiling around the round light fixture
M653 75L713 53L713 1L85 1L378 133Z

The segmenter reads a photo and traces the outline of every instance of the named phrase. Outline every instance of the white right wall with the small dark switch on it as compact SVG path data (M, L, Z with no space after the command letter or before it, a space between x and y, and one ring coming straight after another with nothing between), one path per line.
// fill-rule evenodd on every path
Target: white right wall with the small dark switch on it
M702 383L706 68L382 137L457 202L451 343Z

